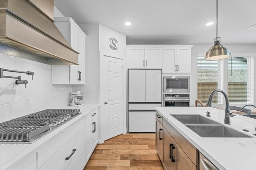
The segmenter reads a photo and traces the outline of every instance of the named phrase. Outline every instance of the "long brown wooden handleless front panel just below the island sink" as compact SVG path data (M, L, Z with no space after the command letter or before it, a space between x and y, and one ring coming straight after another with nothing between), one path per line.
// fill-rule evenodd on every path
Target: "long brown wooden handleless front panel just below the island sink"
M185 138L183 137L166 119L163 119L164 128L170 133L172 138L178 143L190 160L194 163L195 166L198 166L198 151L196 148Z

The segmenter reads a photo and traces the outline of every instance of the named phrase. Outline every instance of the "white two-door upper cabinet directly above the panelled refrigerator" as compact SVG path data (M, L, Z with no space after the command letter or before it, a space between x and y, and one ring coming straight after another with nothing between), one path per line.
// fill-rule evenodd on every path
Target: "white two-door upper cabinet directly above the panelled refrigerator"
M128 69L162 68L162 48L128 47L126 56Z

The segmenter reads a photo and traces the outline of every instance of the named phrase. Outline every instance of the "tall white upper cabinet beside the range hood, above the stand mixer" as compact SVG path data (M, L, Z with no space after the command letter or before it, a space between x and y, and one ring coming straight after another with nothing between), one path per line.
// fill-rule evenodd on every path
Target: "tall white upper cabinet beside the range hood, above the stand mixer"
M79 65L52 65L52 84L85 84L86 34L70 17L57 17L54 21L70 46L79 53Z

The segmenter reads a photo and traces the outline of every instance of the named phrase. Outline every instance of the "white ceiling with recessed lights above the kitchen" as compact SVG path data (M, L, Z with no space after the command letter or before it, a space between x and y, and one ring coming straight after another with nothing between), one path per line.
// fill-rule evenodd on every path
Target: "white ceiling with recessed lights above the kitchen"
M216 38L216 0L55 0L76 23L99 23L127 36L127 44L211 44ZM256 0L219 0L222 44L256 44ZM132 21L132 25L124 25Z

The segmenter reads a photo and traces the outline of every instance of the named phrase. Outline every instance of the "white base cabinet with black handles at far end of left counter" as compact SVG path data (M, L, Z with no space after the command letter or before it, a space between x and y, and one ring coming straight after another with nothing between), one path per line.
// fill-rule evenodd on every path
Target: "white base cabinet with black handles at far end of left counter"
M92 155L93 150L99 141L99 109L95 109L90 114L87 114L86 117L86 162L88 162L90 156Z

